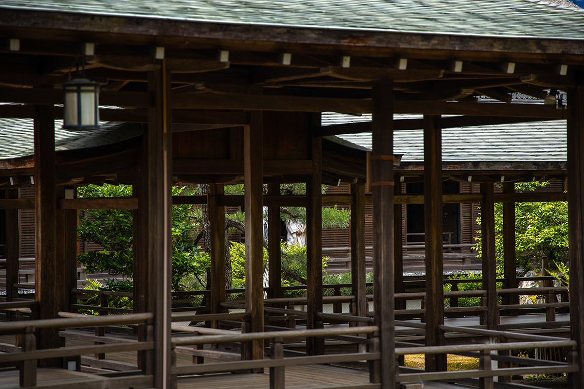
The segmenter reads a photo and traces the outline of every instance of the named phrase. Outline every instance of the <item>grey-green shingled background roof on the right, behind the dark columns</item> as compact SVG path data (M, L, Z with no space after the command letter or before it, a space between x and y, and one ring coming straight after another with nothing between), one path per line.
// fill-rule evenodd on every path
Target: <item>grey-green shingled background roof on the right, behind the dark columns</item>
M395 115L395 119L421 118L421 115ZM362 116L324 113L322 124L370 121ZM371 132L338 135L359 146L371 149ZM422 162L423 131L394 132L394 153L403 154L402 162ZM444 128L442 130L444 162L563 162L566 160L566 121L482 125Z

